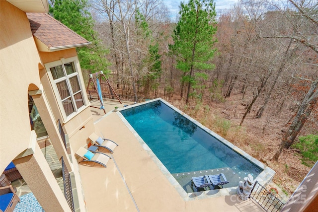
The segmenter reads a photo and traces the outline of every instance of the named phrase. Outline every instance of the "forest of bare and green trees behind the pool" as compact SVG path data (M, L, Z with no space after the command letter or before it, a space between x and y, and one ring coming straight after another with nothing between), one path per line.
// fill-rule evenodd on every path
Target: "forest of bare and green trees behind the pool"
M274 160L318 132L317 0L239 0L222 11L213 0L189 0L173 19L162 0L50 4L51 15L93 43L78 50L82 69L103 70L121 95L202 107L236 95L245 110L229 115L239 126L289 111Z

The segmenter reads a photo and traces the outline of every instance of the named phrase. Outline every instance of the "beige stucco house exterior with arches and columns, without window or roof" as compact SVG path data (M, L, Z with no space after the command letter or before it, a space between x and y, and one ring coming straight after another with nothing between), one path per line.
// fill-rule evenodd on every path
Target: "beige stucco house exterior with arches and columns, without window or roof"
M84 82L80 77L85 106L76 115L66 119L58 102L59 96L54 92L52 78L45 68L48 63L75 58L81 75L76 49L64 47L61 51L41 52L26 15L26 11L32 12L32 9L27 4L18 8L12 2L21 5L15 0L0 0L0 173L13 161L45 211L71 211L37 143L35 131L31 130L28 108L30 95L58 158L63 156L73 176L76 211L85 211L78 164L73 150L69 149L68 152L65 148L57 125L60 120L66 138L75 146L85 145L85 138L94 132ZM48 12L47 1L28 2L28 5L41 4L36 12ZM42 5L43 2L45 5Z

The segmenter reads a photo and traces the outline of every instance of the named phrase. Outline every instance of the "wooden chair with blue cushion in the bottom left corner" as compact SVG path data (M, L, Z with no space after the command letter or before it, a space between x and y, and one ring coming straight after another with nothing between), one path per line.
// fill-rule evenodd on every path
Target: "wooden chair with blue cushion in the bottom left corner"
M11 185L0 187L0 211L13 212L16 204L20 202Z

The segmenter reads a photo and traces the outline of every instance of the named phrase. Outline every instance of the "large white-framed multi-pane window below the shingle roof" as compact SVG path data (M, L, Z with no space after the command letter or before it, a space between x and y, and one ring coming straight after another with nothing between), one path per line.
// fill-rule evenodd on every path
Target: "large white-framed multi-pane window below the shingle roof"
M69 117L85 105L76 63L53 62L48 66L55 84L53 86L56 88L56 96L60 97L65 115Z

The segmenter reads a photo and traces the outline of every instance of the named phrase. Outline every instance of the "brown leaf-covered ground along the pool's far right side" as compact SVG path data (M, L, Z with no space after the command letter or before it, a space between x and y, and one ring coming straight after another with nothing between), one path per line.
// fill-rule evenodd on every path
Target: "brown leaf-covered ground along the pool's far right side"
M204 103L185 106L184 101L179 99L166 100L276 171L273 182L290 196L311 167L303 165L297 151L290 149L284 149L277 162L272 157L279 147L283 132L287 130L286 123L295 112L286 108L276 115L277 106L268 105L262 117L255 118L257 110L253 108L258 109L255 104L239 127L246 106L237 99L240 98L231 96L225 102L214 102L211 107Z

